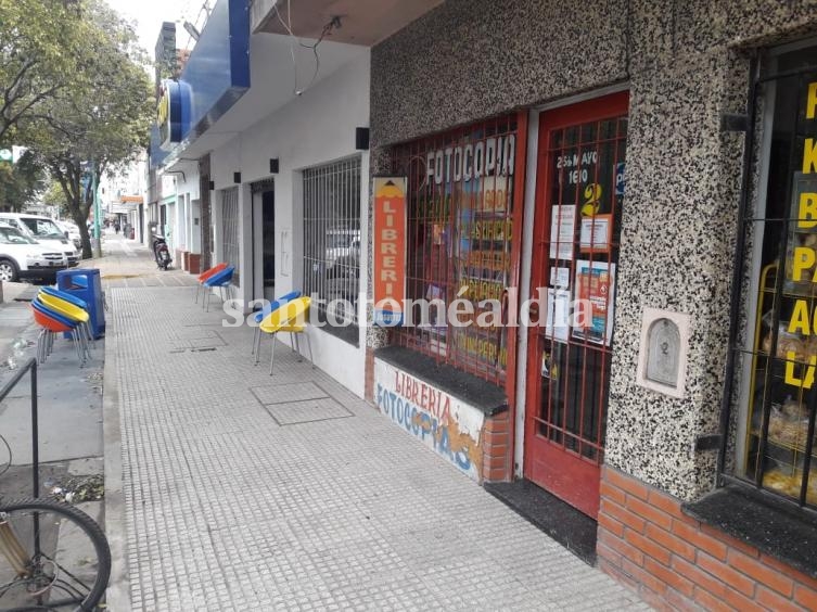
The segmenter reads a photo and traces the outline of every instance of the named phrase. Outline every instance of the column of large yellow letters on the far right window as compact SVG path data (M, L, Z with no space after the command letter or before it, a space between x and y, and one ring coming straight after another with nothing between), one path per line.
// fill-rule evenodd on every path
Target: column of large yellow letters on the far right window
M817 82L808 84L806 95L806 119L817 115ZM817 334L817 308L814 295L817 290L817 138L805 138L803 142L802 171L794 173L792 189L792 217L794 227L789 238L789 262L791 270L787 291L802 296L794 302L788 331L805 337ZM795 216L796 215L796 216ZM788 280L788 279L787 279ZM814 343L806 343L814 346ZM786 384L805 390L814 385L817 355L786 352ZM804 361L805 367L797 361Z

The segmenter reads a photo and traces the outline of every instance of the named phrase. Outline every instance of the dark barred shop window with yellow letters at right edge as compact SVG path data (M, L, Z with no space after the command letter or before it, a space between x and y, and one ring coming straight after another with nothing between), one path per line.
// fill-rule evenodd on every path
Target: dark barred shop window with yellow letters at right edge
M718 483L817 509L817 47L753 61Z

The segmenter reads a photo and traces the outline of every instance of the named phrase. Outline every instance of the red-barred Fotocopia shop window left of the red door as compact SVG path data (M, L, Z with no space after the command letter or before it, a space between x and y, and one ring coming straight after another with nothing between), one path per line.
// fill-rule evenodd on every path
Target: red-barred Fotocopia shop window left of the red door
M496 384L509 368L509 333L499 319L516 283L521 235L518 123L516 115L498 117L392 152L392 171L408 177L407 298L444 305L426 324L417 324L416 307L416 324L396 330L394 340ZM445 309L458 297L473 307L472 316L460 316L470 327L446 324Z

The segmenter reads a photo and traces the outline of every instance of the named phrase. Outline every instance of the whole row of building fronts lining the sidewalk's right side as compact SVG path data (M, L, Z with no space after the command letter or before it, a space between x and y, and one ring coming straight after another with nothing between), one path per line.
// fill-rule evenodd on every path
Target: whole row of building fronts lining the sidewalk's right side
M217 4L176 247L311 295L318 367L648 601L817 607L814 7L329 4L254 2L214 97Z

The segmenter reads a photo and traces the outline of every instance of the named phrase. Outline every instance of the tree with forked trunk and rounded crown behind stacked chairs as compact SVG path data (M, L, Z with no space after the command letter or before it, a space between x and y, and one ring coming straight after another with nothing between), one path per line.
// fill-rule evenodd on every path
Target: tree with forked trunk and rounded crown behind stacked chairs
M62 189L65 207L79 228L82 256L91 257L86 221L93 191L86 186L90 177L99 179L144 150L154 101L132 27L103 0L80 4L86 21L82 74L59 101L46 104L48 119L29 126L26 135Z

